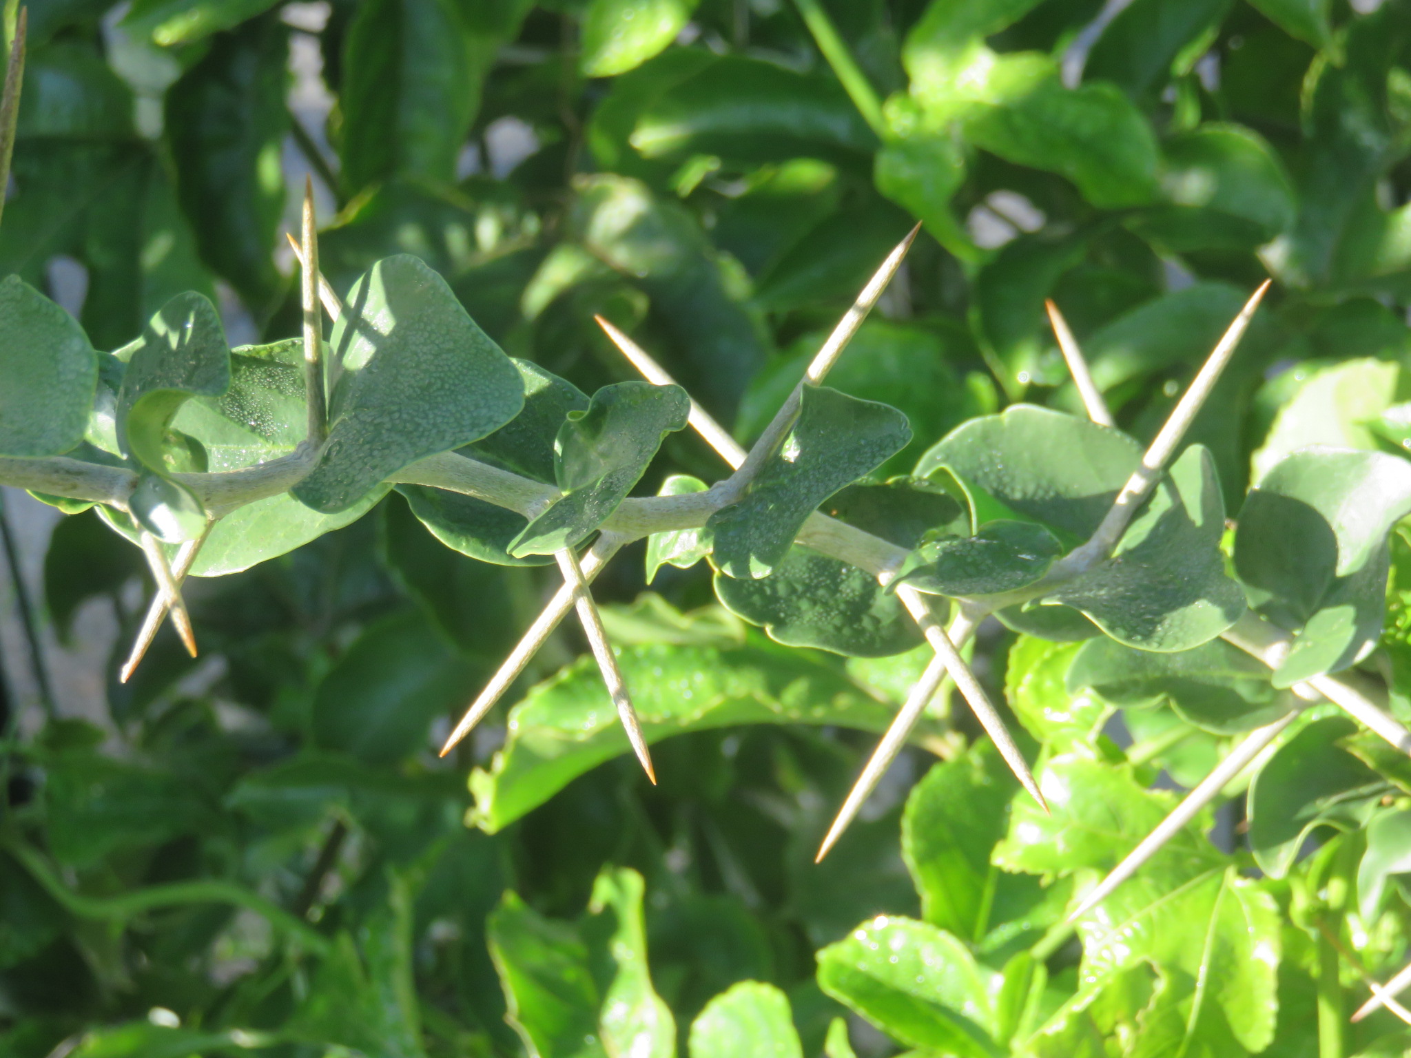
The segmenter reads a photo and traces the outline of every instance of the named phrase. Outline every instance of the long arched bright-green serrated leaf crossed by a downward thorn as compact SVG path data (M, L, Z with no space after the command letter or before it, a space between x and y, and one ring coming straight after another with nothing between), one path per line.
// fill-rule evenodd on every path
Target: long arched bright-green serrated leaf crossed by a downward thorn
M893 707L806 655L769 645L643 645L619 652L649 743L735 724L837 724L885 731ZM471 776L474 824L494 834L591 767L628 753L591 657L539 684L509 712L488 772Z

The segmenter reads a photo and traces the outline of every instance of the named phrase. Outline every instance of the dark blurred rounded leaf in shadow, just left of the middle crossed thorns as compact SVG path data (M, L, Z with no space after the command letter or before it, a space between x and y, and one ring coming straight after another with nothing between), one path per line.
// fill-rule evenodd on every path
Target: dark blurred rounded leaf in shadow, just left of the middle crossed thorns
M320 748L387 763L428 745L430 724L467 697L474 670L419 614L398 614L360 635L313 691Z

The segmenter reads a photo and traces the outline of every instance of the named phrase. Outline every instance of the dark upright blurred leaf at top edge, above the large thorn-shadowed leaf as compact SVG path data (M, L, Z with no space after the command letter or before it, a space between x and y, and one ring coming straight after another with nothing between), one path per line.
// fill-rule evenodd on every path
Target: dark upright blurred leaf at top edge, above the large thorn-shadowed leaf
M339 175L347 195L388 176L450 183L484 76L452 0L373 0L347 30Z

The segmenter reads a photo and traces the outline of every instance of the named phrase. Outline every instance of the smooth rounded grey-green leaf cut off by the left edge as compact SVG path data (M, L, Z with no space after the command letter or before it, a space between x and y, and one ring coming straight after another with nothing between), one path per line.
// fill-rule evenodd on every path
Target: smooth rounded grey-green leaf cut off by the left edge
M83 439L97 354L63 309L20 279L0 281L0 453L56 456Z

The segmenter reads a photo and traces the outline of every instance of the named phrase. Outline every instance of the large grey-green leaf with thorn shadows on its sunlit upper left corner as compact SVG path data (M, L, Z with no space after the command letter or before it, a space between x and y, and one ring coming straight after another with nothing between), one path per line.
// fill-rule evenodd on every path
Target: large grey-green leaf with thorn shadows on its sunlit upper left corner
M346 511L402 467L480 440L523 408L509 358L446 281L405 254L353 285L329 355L329 440L291 490L322 513Z

